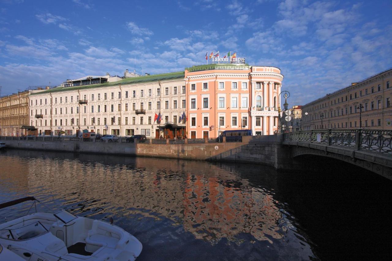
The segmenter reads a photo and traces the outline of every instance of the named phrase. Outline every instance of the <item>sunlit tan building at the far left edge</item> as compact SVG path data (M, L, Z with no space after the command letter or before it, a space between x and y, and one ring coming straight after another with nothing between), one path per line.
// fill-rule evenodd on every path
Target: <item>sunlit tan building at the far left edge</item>
M0 98L0 135L30 134L26 126L29 124L28 94L29 91L23 91Z

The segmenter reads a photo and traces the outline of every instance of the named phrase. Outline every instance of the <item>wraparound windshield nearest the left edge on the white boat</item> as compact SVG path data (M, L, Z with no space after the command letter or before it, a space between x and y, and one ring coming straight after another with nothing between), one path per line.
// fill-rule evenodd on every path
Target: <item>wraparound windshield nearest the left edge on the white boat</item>
M40 221L14 229L0 230L0 237L6 239L26 240L45 234L48 230Z

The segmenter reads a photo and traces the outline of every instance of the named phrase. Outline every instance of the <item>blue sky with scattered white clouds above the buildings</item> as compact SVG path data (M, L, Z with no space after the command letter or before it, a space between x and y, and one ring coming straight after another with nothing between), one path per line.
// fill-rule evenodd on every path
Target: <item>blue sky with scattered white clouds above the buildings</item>
M390 1L0 0L2 95L86 75L182 71L205 53L279 67L289 106L392 67Z

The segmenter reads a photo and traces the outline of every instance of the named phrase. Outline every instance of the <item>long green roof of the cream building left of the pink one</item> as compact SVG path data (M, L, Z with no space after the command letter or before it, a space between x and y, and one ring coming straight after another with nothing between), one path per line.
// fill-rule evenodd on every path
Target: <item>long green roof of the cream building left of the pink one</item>
M43 93L49 93L49 92L62 92L62 91L82 90L82 89L93 89L93 88L99 88L99 87L115 86L115 85L120 85L120 84L158 82L158 81L163 81L163 80L181 79L181 78L184 78L184 76L185 76L185 72L170 72L170 73L163 73L163 74L154 74L154 75L148 75L148 76L125 78L125 79L117 81L117 82L105 82L105 83L99 83L99 84L80 85L80 86L74 86L74 87L56 87L56 88L45 90L42 92L32 93L30 95L43 94Z

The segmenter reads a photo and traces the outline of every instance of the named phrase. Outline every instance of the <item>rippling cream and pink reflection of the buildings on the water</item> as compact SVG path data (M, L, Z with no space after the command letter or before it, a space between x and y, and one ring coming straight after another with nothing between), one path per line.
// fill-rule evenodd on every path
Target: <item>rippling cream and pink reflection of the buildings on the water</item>
M44 184L46 195L64 199L76 214L163 216L211 243L222 238L240 243L236 236L244 232L270 242L283 237L282 216L269 192L218 166L151 158L116 165L110 157L102 163L94 157L36 158L29 167L29 186L36 190Z

